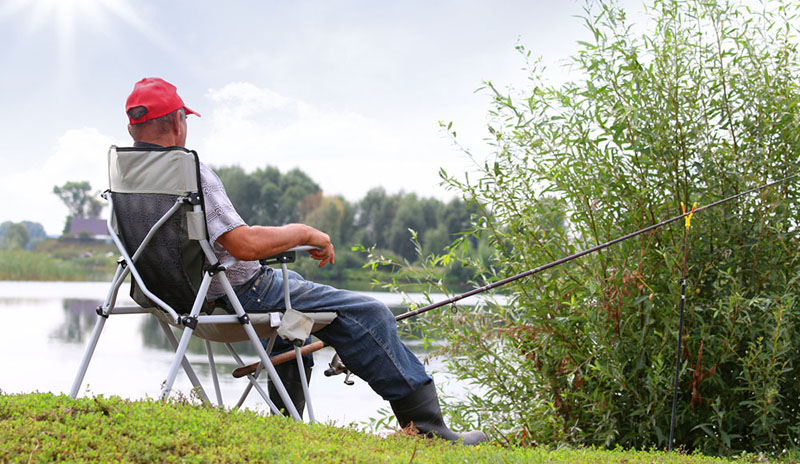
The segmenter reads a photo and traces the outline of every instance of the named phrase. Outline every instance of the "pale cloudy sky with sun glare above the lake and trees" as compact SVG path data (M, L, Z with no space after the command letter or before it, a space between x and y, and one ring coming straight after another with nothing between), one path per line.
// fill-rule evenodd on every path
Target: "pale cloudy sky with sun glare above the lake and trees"
M632 13L641 2L620 2ZM326 195L447 200L438 172L487 156L490 80L525 86L515 46L554 81L588 32L579 0L0 0L0 222L61 233L55 185L107 187L110 145L131 144L136 81L173 83L187 146L212 166L300 168Z

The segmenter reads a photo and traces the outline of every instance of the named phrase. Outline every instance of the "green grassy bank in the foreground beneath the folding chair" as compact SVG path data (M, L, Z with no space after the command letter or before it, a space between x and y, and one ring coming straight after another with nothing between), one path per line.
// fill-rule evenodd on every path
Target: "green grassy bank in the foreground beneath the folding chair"
M251 411L120 398L0 394L0 462L728 463L664 452L454 446Z

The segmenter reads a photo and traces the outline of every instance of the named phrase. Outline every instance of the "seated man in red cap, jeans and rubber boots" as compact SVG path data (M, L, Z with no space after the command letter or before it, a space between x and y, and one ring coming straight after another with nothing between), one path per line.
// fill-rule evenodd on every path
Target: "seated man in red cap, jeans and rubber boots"
M180 146L187 136L186 117L198 113L187 108L176 88L159 78L137 82L125 111L128 132L139 148ZM258 263L298 245L312 245L310 251L319 266L333 264L335 252L328 234L305 224L279 227L250 226L239 217L219 177L200 166L205 197L206 223L210 242L220 261L230 256L239 260L226 274L245 311L281 311L283 277ZM337 318L314 335L336 349L344 364L389 401L402 427L413 423L425 436L477 444L486 440L483 432L452 432L442 419L433 379L422 363L402 344L389 309L381 302L357 293L306 281L299 274L289 276L292 306L304 312L335 311ZM221 285L212 281L209 300L224 296ZM295 369L296 371L296 369Z

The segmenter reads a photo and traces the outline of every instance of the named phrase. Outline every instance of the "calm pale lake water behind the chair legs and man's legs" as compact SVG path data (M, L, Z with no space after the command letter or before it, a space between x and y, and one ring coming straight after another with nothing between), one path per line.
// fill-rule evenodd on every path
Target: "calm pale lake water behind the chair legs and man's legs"
M103 282L0 282L0 390L5 393L53 392L68 394L83 357L86 343L97 320L95 308L108 289ZM402 298L395 294L365 292L381 299L395 311L402 312ZM128 288L120 290L118 304L133 304ZM411 295L418 298L419 295ZM438 300L439 298L434 298ZM467 304L474 303L465 300ZM192 363L209 397L214 387L207 367L205 346L193 340L187 358ZM420 343L407 342L420 359L425 352ZM238 344L237 348L242 348ZM237 349L245 362L257 357L247 347ZM127 398L157 398L165 380L174 351L155 318L147 315L110 317L100 337L80 396L118 395ZM224 347L215 348L215 361L226 406L238 401L247 384L234 379L236 366ZM353 377L355 385L344 385L344 376L325 377L323 371L333 356L324 348L314 354L311 380L314 412L319 421L339 425L362 423L378 416L378 409L389 404L375 394L366 382ZM466 385L453 381L444 372L441 360L429 360L428 371L445 394L461 396ZM191 390L183 371L179 371L173 392ZM175 393L173 393L174 395ZM252 392L245 407L267 411L261 398Z

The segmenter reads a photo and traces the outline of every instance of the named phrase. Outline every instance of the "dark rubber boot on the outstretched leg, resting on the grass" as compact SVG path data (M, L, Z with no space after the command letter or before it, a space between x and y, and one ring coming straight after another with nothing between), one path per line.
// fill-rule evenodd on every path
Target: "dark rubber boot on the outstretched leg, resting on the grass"
M452 442L463 440L465 445L477 445L486 441L486 435L480 430L455 433L444 424L433 381L405 398L390 401L389 404L392 405L392 411L401 427L406 428L413 424L427 438L436 436Z

